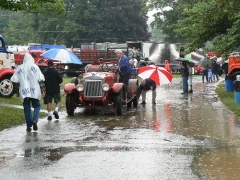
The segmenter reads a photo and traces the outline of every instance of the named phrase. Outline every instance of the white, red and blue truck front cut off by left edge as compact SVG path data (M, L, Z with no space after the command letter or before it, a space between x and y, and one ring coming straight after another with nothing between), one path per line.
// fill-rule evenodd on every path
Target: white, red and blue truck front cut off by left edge
M0 96L2 97L12 97L14 94L14 85L10 80L14 69L14 55L8 50L3 36L0 35Z

